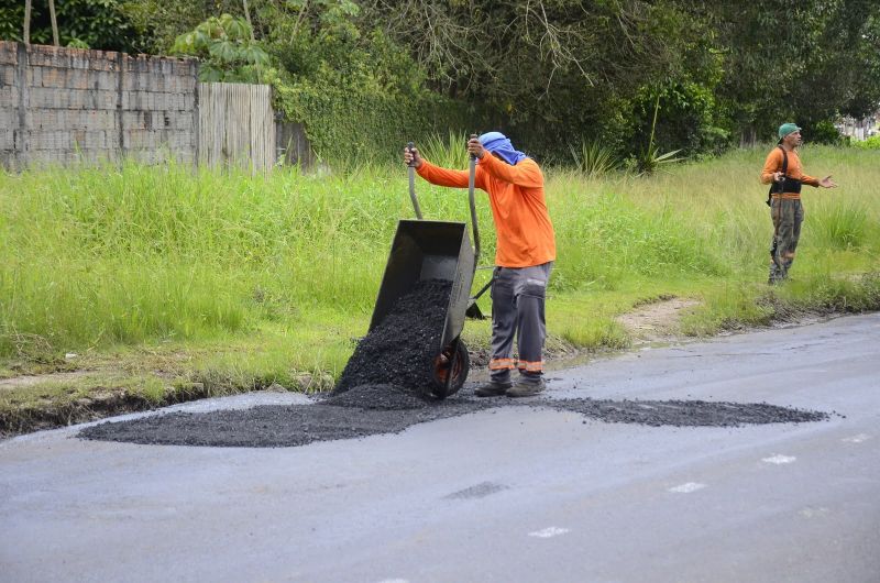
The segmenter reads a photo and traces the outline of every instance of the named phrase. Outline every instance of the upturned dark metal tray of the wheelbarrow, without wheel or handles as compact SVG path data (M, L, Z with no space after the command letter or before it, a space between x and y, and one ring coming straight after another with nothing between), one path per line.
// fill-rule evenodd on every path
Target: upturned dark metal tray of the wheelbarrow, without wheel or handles
M474 250L463 222L400 220L392 242L385 275L378 290L370 331L378 326L397 300L416 283L426 279L452 282L438 354L459 338L464 329L471 285L474 277Z

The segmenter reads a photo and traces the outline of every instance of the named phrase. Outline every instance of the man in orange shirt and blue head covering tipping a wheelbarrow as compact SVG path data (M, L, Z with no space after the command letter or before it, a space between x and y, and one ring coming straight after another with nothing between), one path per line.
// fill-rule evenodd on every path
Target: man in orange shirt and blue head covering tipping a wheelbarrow
M477 158L474 185L488 194L495 221L496 253L492 283L491 381L476 389L480 397L528 397L544 389L544 297L557 257L556 235L538 164L514 148L501 132L468 142ZM418 150L405 150L419 176L438 186L466 188L469 174L435 166ZM514 337L518 360L514 360ZM512 371L519 370L516 383Z

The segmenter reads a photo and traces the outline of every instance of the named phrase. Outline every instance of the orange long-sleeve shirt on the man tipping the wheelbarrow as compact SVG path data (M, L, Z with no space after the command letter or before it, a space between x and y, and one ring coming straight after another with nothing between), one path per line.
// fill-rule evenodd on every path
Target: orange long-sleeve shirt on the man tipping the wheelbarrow
M468 187L466 170L435 166L427 160L419 176L438 186ZM479 161L474 186L488 194L495 220L495 264L531 267L557 258L556 234L543 194L543 174L531 158L516 166L488 152Z

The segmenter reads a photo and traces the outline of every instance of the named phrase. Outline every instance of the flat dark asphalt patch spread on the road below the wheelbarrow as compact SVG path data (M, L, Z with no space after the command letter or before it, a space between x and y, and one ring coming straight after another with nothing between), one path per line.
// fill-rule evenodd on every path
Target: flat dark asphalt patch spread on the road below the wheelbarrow
M356 397L371 400L358 405ZM360 439L398 433L417 424L458 417L498 407L551 408L606 422L652 427L740 427L765 424L801 424L828 419L828 414L780 407L766 403L705 400L608 400L532 397L479 398L473 387L444 400L414 399L411 392L381 385L334 403L317 399L307 405L266 405L244 410L172 413L127 421L108 421L78 433L80 438L165 446L289 448L316 441Z

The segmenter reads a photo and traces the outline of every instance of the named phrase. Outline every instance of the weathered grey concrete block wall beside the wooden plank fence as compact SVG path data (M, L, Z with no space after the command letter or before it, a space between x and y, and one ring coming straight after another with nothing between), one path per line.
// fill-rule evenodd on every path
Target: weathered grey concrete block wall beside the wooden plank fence
M198 160L194 59L0 42L0 164Z

